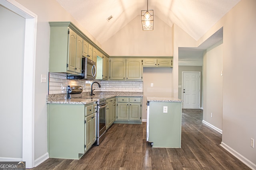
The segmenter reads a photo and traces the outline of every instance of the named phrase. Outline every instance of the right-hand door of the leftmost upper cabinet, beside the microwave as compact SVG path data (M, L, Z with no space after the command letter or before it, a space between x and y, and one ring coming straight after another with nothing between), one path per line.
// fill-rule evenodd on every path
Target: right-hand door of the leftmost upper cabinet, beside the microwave
M79 35L76 38L76 68L75 72L82 73L83 39Z

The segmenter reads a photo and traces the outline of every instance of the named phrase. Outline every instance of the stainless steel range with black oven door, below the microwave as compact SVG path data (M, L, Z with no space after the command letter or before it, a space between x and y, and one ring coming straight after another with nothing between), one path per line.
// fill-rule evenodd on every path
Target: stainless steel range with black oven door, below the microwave
M82 86L70 86L71 98L81 99L97 99L97 131L96 131L96 145L100 145L106 136L106 98L101 96L84 96L82 97Z

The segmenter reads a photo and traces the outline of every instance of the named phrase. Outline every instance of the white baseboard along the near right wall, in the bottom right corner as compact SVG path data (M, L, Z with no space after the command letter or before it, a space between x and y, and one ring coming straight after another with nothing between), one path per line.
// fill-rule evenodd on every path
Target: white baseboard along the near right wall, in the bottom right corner
M246 166L251 168L252 170L256 170L256 164L254 164L252 161L248 160L246 157L241 155L240 153L236 152L236 150L232 149L228 145L226 145L224 142L221 142L220 146L230 152L232 155L234 155L236 158L241 160Z

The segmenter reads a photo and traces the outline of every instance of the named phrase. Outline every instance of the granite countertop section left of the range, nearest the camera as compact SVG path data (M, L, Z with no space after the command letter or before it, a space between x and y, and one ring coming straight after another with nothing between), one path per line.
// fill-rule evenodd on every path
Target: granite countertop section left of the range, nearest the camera
M97 99L61 99L47 101L48 104L90 104L97 102Z

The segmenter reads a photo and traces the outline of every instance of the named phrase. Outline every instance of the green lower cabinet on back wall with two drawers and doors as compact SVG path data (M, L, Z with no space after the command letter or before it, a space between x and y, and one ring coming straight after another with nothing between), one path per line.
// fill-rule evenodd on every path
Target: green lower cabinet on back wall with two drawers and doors
M142 98L118 97L115 123L141 124Z

